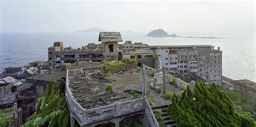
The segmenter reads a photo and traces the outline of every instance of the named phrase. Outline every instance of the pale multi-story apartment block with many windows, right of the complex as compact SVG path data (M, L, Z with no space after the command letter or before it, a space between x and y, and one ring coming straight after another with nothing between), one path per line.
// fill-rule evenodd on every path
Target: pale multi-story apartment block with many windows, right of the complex
M184 74L197 74L204 80L221 84L222 52L212 45L151 46L159 56L161 65L178 69Z

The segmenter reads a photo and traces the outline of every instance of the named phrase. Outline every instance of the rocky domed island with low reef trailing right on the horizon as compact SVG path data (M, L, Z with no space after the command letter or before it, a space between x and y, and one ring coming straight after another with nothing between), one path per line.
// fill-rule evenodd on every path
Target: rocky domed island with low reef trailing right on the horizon
M168 34L167 32L165 32L163 29L157 29L157 30L153 30L151 32L149 32L146 36L149 37L180 37L180 38L208 38L208 39L223 39L223 38L216 38L216 37L181 37L181 36L176 36L176 34Z

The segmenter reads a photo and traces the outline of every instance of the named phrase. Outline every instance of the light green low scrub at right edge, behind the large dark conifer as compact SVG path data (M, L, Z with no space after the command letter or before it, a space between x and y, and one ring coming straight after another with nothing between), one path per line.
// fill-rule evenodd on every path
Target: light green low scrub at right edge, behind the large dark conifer
M234 104L235 111L240 112L252 112L252 99L250 95L241 94L239 91L228 90L226 91L227 96L230 98L231 102ZM254 100L254 111L256 111L256 100ZM256 114L256 112L254 112Z

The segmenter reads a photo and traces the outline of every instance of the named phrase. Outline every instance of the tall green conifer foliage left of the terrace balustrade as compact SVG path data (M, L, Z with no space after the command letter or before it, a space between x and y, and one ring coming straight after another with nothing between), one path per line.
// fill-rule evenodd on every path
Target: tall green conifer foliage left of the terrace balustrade
M50 82L45 95L38 99L36 112L23 126L69 126L70 112L65 100L65 83Z

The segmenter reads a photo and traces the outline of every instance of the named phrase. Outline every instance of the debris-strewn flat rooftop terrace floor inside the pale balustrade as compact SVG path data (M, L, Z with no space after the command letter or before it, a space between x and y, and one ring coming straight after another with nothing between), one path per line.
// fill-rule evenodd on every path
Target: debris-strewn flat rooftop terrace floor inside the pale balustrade
M93 73L95 74L95 72ZM134 100L131 94L125 93L125 90L134 88L142 91L142 72L119 75L112 74L107 79L112 82L103 82L91 79L90 76L79 77L78 75L69 76L69 89L74 99L85 109L102 107L104 105L114 104L116 102L125 102ZM157 93L150 88L150 82L153 77L146 76L146 87L149 94L147 95L153 101L153 107L165 104L171 104L171 101L161 97L161 93ZM113 85L113 91L105 90L107 84ZM163 86L159 86L163 89ZM175 86L167 84L167 91L172 91L176 94L181 94L182 91ZM141 94L139 94L141 96Z

